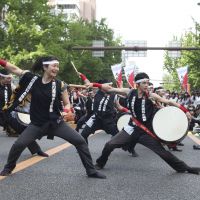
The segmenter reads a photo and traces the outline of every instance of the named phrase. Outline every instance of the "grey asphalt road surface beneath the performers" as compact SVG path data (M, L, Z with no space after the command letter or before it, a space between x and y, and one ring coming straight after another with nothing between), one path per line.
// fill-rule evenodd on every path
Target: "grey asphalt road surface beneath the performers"
M109 135L100 132L89 138L94 161L101 153ZM0 169L16 138L0 130ZM39 141L47 151L65 143L56 138ZM200 166L200 151L193 150L194 141L186 137L182 152L174 152L188 165ZM102 172L107 179L87 178L73 146L0 179L0 200L200 200L200 175L179 174L156 154L137 144L139 157L115 150ZM25 150L19 162L32 158Z

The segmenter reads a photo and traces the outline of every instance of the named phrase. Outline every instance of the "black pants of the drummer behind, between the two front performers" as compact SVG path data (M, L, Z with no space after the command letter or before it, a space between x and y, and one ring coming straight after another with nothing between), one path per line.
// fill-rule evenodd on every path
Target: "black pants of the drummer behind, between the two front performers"
M112 136L116 135L119 132L113 117L106 117L104 119L101 119L93 115L87 121L86 126L83 129L81 135L85 138L86 142L88 143L87 138L89 137L89 135L94 134L96 130L104 130L107 134L110 134Z

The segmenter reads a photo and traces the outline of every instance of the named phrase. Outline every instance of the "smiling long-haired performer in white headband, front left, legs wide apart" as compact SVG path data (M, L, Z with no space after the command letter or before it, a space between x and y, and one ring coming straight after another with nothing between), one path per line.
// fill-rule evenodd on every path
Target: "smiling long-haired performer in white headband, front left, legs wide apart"
M39 57L34 63L33 72L42 72L42 76L24 71L19 67L0 59L0 65L17 76L21 76L19 82L21 90L16 95L16 100L8 108L12 110L29 93L31 94L30 119L31 123L12 145L7 164L4 166L1 176L10 175L16 166L23 150L36 139L47 135L49 139L54 136L63 138L73 144L86 169L88 177L106 178L105 175L96 171L88 145L84 138L64 122L61 112L71 115L67 85L56 79L59 71L59 61L54 56Z

